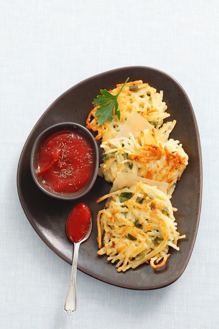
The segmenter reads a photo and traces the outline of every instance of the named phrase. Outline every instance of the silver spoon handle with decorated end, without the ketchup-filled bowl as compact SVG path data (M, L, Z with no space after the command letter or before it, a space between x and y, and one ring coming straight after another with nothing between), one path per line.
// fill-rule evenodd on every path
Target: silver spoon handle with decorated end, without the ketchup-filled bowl
M77 309L76 270L77 270L77 256L78 256L79 246L80 246L80 242L77 243L74 242L71 282L68 287L68 291L63 306L63 311L68 315L72 315L73 313L76 312Z

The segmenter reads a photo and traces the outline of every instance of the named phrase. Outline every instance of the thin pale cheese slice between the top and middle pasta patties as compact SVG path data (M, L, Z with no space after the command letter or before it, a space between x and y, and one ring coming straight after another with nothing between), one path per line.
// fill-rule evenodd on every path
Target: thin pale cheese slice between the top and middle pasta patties
M131 132L135 137L139 131L145 129L153 129L154 126L151 125L146 119L144 119L140 114L133 113L131 114L127 120L125 121L124 125L116 135L116 138L119 137L129 137L129 133ZM154 128L154 132L158 139L165 143L167 139L161 134L157 129Z

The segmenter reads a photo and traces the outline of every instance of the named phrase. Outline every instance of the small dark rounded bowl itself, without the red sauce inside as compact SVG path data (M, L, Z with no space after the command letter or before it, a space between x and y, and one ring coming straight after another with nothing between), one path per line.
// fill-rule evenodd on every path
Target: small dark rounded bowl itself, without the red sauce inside
M91 178L87 182L87 184L83 187L82 190L77 191L75 193L54 192L54 191L46 188L43 185L40 176L36 176L37 156L39 153L40 146L42 145L43 141L45 139L47 139L49 136L53 135L54 133L56 133L60 130L64 130L64 129L73 129L73 130L77 130L80 133L82 133L84 136L86 136L90 140L93 151L94 151L94 167L93 167L93 172L92 172ZM74 123L74 122L57 123L47 129L45 129L37 137L37 139L35 140L35 142L33 144L33 149L31 152L31 173L33 176L33 180L40 190L42 190L44 193L46 193L54 198L61 199L61 200L76 200L76 199L84 196L85 194L87 194L90 191L90 189L92 188L92 186L94 185L94 182L97 178L98 166L99 166L99 151L98 151L97 143L96 143L94 137L92 136L92 134L89 132L89 130L87 130L86 128L84 128L83 126L81 126L78 123Z

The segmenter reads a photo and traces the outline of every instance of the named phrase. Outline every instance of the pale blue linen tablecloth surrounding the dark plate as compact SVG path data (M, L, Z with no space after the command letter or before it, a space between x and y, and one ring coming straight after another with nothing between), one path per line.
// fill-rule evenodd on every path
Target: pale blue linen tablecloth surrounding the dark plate
M218 1L4 0L0 18L0 328L218 328ZM77 271L78 310L67 316L71 266L22 211L18 159L62 92L129 65L169 73L191 100L204 173L198 236L184 274L164 289L130 291Z

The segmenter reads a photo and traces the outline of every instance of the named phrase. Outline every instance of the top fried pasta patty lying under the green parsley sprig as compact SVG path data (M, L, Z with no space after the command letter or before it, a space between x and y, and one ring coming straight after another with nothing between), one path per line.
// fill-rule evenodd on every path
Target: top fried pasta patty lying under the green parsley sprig
M122 84L117 85L117 88L109 90L112 95L116 95L121 89ZM134 88L133 88L134 87ZM98 126L96 118L96 110L99 108L95 106L87 118L87 129L97 131L96 139L102 138L102 141L115 138L121 127L132 113L139 113L147 121L151 122L156 129L163 124L164 118L170 116L166 113L167 106L163 102L163 91L160 93L156 89L150 87L142 80L128 82L121 90L118 97L119 109L121 113L120 121L118 117L113 115L111 122L107 121ZM93 119L91 118L93 116Z

